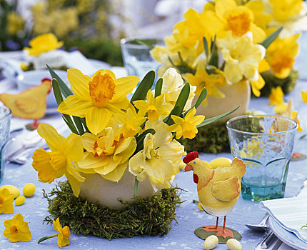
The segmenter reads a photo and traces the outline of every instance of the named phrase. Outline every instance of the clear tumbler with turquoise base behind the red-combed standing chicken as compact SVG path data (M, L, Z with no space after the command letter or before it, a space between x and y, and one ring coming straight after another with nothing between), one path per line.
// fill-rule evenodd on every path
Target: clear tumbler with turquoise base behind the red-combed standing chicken
M231 154L246 164L243 199L283 198L297 126L283 116L246 115L227 121Z

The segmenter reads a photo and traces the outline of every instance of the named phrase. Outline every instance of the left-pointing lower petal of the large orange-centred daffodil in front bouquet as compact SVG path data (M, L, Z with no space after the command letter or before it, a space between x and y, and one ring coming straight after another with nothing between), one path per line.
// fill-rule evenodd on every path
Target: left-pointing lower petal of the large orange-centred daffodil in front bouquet
M59 106L58 111L62 114L85 117L86 111L93 106L91 101L84 101L78 96L68 96Z

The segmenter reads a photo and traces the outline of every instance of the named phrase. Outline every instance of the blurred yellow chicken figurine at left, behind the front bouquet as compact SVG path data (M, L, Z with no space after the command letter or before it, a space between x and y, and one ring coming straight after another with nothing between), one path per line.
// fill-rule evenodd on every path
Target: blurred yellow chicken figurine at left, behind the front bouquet
M51 80L42 79L41 84L27 89L19 94L0 94L0 101L11 109L13 116L22 119L34 119L30 124L33 129L39 126L38 119L44 117L46 112L46 98L51 91Z

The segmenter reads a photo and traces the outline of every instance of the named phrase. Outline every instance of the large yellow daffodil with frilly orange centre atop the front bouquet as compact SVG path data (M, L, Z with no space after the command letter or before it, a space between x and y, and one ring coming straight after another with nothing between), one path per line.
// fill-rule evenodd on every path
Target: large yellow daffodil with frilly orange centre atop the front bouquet
M98 134L109 123L113 114L129 106L127 94L139 82L137 76L116 79L107 69L97 71L92 77L78 69L69 69L67 77L74 95L68 96L58 111L72 116L86 117L86 125L93 134Z

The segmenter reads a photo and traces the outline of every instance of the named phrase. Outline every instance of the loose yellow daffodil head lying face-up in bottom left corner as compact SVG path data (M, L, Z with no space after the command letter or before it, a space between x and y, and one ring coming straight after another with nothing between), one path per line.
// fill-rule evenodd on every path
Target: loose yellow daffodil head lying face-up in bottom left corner
M16 214L13 219L4 221L3 235L11 242L30 241L32 235L29 229L28 222L24 221L22 214Z

